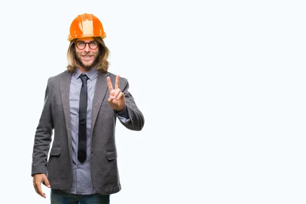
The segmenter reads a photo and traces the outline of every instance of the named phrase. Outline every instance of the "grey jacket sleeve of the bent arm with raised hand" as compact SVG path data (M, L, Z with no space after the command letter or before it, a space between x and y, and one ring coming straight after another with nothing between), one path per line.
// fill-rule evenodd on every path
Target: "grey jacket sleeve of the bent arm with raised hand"
M126 80L126 79L125 79ZM129 118L125 122L119 119L119 121L127 128L133 131L141 131L144 125L144 117L141 111L138 109L132 94L129 92L129 82L126 80L126 85L124 86L122 92L125 96L125 106L127 113L129 113Z

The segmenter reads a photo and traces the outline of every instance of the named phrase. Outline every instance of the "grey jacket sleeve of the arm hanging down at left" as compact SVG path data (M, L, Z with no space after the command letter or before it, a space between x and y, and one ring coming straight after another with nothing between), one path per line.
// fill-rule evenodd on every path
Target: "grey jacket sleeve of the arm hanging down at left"
M32 176L36 173L46 174L47 169L48 151L52 141L52 134L54 129L51 110L51 93L49 86L50 78L48 79L44 97L44 105L34 138L31 173Z

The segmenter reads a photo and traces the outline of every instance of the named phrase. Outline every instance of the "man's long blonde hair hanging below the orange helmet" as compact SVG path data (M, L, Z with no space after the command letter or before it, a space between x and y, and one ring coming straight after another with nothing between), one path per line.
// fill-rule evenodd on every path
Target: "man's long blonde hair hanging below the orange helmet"
M93 37L93 39L99 42L99 54L98 54L96 69L102 73L107 72L110 64L108 62L110 50L107 48L101 37ZM75 57L75 45L74 45L75 41L77 41L77 39L72 39L70 41L67 51L67 59L68 59L67 69L70 72L74 72L75 68L81 67L81 65L79 64L78 60Z

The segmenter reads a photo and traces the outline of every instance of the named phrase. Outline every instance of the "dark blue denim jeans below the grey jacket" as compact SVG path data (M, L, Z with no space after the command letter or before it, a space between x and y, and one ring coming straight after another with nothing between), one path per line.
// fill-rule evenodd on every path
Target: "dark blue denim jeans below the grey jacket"
M57 189L51 189L50 201L51 204L109 204L110 195L101 195L98 193L92 195L77 195Z

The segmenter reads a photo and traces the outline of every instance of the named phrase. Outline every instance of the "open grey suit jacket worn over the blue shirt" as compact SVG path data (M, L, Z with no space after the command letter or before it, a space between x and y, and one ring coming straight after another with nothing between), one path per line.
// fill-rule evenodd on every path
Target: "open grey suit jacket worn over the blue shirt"
M108 103L107 77L115 87L116 75L98 72L95 85L92 122L90 166L93 186L100 194L121 190L115 143L116 114ZM32 176L45 173L51 188L68 190L72 184L72 144L70 130L69 87L71 73L67 70L48 79L44 106L36 129ZM127 129L140 131L144 118L128 91L129 83L120 78L130 119L121 122ZM54 130L53 145L50 149ZM47 160L48 152L49 159Z

